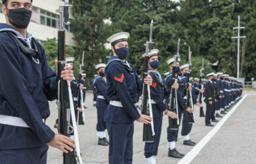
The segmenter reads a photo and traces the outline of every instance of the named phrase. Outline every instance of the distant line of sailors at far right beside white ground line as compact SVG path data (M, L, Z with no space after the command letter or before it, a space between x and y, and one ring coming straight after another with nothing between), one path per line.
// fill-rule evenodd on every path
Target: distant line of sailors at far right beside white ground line
M223 117L242 96L242 82L228 74L209 73L205 83L205 125L213 126L212 122L218 122L215 117Z

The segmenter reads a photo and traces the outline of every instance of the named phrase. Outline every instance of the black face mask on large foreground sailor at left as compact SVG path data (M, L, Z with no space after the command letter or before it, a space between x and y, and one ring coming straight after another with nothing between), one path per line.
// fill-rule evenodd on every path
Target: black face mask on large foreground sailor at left
M8 19L10 23L17 28L27 28L30 24L32 11L25 8L8 9Z

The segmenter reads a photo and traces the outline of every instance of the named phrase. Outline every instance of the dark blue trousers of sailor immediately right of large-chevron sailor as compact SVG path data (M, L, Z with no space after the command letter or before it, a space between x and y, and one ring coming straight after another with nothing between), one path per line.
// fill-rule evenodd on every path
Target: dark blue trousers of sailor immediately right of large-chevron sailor
M154 118L153 121L155 131L154 142L145 142L144 155L146 158L151 157L152 155L158 155L158 146L160 142L163 118Z

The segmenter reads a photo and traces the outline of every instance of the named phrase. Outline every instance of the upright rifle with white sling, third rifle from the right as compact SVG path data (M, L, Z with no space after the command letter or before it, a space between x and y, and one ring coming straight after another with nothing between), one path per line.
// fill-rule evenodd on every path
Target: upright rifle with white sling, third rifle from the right
M171 86L173 86L173 84L177 82L177 78L175 77L175 69L177 66L177 62L179 61L179 49L180 49L180 39L178 41L177 54L174 56L173 70L171 74ZM170 97L170 110L171 112L175 112L178 116L177 119L171 119L171 129L178 130L180 121L179 121L179 112L178 112L177 89L173 89L171 87L171 94L169 97Z

